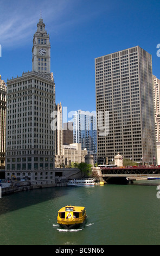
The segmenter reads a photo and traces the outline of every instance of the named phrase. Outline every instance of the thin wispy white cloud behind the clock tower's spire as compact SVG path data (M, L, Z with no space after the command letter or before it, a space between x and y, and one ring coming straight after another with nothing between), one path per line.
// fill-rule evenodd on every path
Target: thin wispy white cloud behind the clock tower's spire
M94 19L99 1L93 0L0 0L0 44L3 48L31 44L42 19L48 33L63 35L68 28ZM56 39L55 39L56 40Z

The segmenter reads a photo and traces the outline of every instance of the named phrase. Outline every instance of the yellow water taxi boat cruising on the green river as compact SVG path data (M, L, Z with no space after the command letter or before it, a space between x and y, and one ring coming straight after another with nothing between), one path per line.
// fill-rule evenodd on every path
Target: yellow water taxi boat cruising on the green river
M65 206L58 211L57 223L63 228L77 228L86 222L85 207L80 206Z

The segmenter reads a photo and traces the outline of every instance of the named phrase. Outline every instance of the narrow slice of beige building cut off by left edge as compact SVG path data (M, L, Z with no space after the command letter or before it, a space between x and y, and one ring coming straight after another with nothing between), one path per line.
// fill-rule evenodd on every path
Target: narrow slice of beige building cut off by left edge
M0 75L0 168L5 167L5 126L7 86Z

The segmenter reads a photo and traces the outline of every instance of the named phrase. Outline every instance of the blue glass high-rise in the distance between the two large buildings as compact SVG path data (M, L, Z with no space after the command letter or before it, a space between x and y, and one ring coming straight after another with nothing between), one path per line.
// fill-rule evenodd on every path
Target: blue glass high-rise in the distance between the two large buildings
M97 153L97 126L95 113L75 111L73 115L73 141L81 143L81 149Z

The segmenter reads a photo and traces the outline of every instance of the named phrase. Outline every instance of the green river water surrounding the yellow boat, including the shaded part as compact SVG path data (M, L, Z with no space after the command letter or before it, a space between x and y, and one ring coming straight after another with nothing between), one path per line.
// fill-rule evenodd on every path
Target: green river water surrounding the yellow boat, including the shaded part
M159 245L159 181L134 185L53 187L0 199L0 245ZM149 185L150 184L150 185ZM85 206L84 228L56 223L65 205Z

